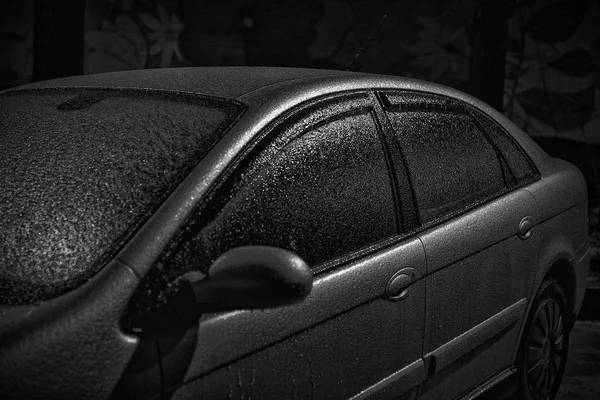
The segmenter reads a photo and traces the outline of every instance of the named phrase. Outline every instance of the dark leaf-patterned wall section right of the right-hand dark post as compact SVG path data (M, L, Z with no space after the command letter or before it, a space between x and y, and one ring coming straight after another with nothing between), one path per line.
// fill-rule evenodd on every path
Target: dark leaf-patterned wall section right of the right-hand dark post
M525 2L509 24L507 116L534 136L600 143L600 3Z

